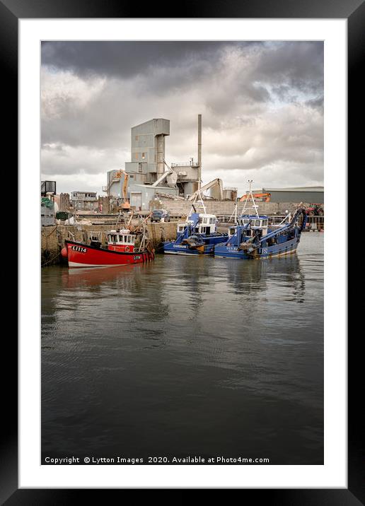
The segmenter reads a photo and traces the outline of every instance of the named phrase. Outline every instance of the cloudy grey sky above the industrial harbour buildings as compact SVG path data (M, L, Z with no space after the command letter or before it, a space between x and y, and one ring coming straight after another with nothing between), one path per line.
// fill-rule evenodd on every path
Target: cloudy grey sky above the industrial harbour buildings
M168 163L254 187L323 184L323 42L43 42L42 180L103 194L130 128L170 119Z

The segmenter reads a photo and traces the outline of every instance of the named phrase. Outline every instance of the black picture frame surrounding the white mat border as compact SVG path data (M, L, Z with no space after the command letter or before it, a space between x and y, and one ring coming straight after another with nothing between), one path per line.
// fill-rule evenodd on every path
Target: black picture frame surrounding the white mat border
M363 0L255 0L221 1L210 0L192 3L180 2L178 11L174 4L162 1L156 6L144 6L144 18L346 18L348 23L348 163L354 165L361 160L363 142L361 119L361 64L365 47L365 5ZM0 61L2 69L4 146L11 155L11 170L18 165L18 20L20 18L139 18L140 8L136 4L105 0L0 0ZM162 13L164 16L162 16ZM362 154L362 153L361 153ZM11 174L11 178L13 175ZM13 180L13 179L12 179ZM349 231L351 233L352 228ZM346 254L343 242L342 253ZM16 286L16 280L13 279ZM10 339L10 337L12 339ZM3 369L6 357L8 372L3 379L4 407L1 433L0 501L12 505L55 505L69 504L84 499L92 493L93 500L100 494L123 493L123 490L56 490L18 489L18 353L14 336L4 339ZM243 499L265 500L270 505L360 505L365 504L364 446L361 436L365 420L361 414L364 404L363 364L361 353L361 331L350 336L348 341L349 392L348 392L348 488L347 489L243 489Z

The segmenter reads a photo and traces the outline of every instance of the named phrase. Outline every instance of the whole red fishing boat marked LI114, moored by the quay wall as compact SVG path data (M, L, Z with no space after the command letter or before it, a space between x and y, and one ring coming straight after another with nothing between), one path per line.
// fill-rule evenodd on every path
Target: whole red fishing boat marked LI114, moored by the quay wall
M98 240L83 244L65 240L62 257L68 259L69 267L105 267L140 264L151 261L154 251L146 240L146 235L132 233L129 229L110 230L107 245Z

